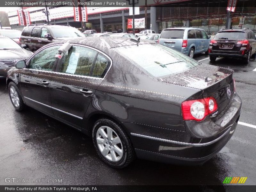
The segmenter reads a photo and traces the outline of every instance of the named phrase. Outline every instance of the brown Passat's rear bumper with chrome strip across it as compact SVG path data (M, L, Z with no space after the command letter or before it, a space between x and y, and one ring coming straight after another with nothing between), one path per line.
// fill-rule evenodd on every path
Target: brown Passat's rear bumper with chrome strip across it
M228 111L216 122L208 119L199 126L193 121L185 123L186 131L175 133L176 140L173 138L173 131L167 133L171 139L166 139L166 133L162 135L160 130L158 136L157 132L154 133L156 136L149 136L150 133L141 125L141 133L131 132L137 156L141 159L172 164L203 164L225 146L236 129L242 103L237 95L232 102ZM150 132L153 132L153 129ZM199 137L201 132L204 133ZM184 138L189 142L184 141Z

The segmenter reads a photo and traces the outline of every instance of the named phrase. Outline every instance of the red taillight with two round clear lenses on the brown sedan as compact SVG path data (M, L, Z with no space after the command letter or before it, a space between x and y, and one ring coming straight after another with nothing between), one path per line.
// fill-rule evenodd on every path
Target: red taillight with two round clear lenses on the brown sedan
M181 104L184 120L202 121L206 116L216 111L217 108L217 102L213 97L183 101Z

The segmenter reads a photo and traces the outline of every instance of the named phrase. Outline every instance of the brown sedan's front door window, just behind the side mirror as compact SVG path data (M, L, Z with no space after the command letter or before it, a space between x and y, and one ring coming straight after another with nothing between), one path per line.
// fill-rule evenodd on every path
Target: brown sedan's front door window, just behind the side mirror
M29 69L52 71L60 45L48 47L38 52L29 62Z

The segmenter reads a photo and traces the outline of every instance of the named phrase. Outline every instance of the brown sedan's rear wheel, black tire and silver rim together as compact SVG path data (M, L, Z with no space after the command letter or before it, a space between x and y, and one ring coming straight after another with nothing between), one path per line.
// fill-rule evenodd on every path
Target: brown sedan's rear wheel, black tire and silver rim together
M92 140L100 159L113 168L124 168L135 157L132 141L127 133L109 119L99 119L95 122Z

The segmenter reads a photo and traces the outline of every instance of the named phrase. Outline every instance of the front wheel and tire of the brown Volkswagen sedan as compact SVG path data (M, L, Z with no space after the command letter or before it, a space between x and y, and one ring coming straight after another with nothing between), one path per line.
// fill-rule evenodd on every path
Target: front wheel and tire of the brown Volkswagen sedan
M9 97L11 99L13 107L17 111L22 111L25 108L25 104L21 98L20 91L15 83L10 82L8 84Z

